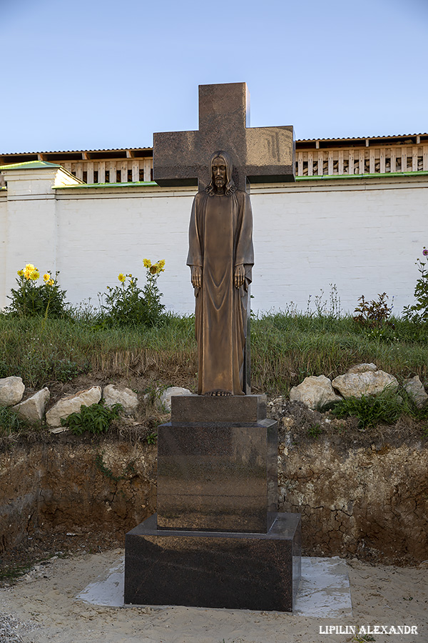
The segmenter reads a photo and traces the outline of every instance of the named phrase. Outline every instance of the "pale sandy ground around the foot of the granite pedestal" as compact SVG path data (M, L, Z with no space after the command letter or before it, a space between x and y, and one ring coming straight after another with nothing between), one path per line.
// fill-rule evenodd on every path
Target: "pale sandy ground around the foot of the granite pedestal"
M76 599L121 554L113 549L54 559L0 589L0 613L13 617L14 626L19 622L14 634L0 629L1 643L428 643L427 562L400 568L347 561L352 616L339 619L193 607L98 607ZM416 626L417 634L374 633L381 625L388 631ZM327 633L332 626L342 627L342 633ZM366 629L357 636L351 626L357 633L370 626L372 633L367 636Z

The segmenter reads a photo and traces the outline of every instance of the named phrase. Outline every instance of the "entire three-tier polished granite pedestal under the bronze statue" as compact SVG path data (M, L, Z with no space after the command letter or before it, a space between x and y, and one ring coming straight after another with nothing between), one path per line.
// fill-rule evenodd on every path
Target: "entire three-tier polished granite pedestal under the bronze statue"
M291 612L300 515L277 513L266 397L173 397L158 513L126 534L125 602Z

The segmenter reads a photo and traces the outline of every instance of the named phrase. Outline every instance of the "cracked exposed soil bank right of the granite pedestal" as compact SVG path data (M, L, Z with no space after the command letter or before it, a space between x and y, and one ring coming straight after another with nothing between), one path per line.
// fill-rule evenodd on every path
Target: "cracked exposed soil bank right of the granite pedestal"
M282 444L280 509L302 514L310 554L421 562L428 558L427 471L420 442L342 452L322 439L304 453Z

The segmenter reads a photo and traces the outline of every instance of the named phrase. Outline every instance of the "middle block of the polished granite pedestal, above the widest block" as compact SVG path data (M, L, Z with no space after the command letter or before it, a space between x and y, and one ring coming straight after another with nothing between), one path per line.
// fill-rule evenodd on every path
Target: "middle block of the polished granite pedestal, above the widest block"
M158 427L158 527L270 529L277 511L277 424Z

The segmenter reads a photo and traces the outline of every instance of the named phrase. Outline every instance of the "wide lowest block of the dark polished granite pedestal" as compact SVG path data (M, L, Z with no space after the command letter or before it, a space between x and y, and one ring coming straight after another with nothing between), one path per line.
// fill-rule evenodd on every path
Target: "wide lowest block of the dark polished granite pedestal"
M292 612L300 581L300 514L267 534L157 529L126 534L125 603Z

